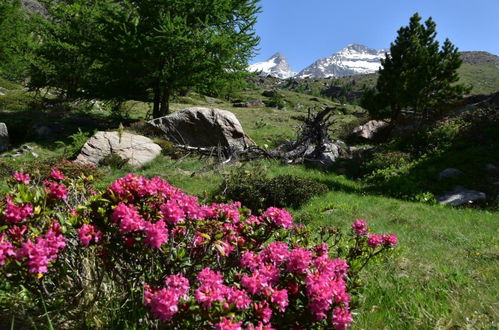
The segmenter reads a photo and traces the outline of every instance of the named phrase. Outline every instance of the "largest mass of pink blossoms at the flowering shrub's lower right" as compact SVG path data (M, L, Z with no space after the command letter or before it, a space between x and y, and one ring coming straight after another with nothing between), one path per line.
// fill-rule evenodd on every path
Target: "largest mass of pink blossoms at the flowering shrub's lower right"
M260 254L246 252L241 257L241 266L252 271L251 276L244 275L241 285L250 293L270 292L270 302L284 312L288 304L288 292L297 294L298 283L290 283L288 290L275 290L274 287L284 276L283 272L305 274L305 286L309 299L309 309L319 321L327 317L333 306L348 309L350 297L347 293L345 276L348 265L341 259L330 259L322 244L319 253L314 254L305 248L289 250L282 242L270 243ZM280 266L280 268L279 268ZM259 305L264 323L270 320L272 310L265 304Z

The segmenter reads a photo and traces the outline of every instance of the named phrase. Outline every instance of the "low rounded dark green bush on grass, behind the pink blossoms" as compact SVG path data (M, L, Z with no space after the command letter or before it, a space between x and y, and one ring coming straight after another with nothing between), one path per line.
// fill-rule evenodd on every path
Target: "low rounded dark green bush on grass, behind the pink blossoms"
M241 201L253 210L260 210L271 206L296 208L327 191L322 183L294 175L268 178L261 171L246 171L231 174L218 193L229 200Z

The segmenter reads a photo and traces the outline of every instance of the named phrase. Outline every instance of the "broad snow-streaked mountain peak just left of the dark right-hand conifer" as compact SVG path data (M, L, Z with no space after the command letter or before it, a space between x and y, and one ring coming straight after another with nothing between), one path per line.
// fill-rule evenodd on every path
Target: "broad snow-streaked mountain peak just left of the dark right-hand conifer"
M315 61L300 71L296 78L329 78L374 73L387 50L376 50L364 45L350 44L339 52Z

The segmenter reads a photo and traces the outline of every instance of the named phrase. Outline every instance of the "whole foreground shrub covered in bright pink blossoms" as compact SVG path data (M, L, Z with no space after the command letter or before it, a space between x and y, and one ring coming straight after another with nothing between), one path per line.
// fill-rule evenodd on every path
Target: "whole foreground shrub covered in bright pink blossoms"
M115 304L120 315L101 325L344 329L358 273L397 244L362 220L316 235L282 209L202 205L158 177L129 174L93 196L88 178L60 171L42 187L13 180L0 207L0 304L38 324L50 311L49 325L96 326ZM107 308L90 314L96 304Z

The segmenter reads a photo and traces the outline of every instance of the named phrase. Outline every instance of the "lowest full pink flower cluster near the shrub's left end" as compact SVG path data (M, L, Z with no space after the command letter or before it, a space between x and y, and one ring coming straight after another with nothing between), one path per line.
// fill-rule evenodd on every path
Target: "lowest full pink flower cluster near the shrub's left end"
M47 265L57 259L57 255L65 247L66 239L60 231L60 225L54 222L43 237L38 236L34 242L24 242L16 251L16 258L26 261L30 273L46 273Z

